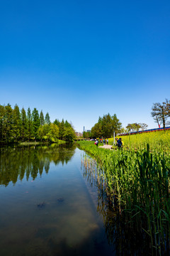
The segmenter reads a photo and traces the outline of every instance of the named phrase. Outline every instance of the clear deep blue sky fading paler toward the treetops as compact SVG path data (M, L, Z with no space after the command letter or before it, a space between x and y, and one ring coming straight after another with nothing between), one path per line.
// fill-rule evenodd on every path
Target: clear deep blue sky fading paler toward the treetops
M116 114L145 122L170 100L170 1L15 0L0 6L0 104L81 132Z

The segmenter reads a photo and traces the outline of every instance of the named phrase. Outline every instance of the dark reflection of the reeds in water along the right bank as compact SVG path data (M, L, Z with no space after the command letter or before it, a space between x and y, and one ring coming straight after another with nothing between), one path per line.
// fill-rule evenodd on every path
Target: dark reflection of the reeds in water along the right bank
M81 167L89 186L97 188L97 211L103 219L108 242L115 248L115 255L157 255L151 248L147 233L132 220L132 213L120 213L116 198L108 193L103 171L96 161L84 154ZM141 219L141 223L145 227L145 219Z

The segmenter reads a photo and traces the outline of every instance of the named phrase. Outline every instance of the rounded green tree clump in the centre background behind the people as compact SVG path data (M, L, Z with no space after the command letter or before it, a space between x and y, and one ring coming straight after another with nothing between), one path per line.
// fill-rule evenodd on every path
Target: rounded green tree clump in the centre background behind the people
M98 122L91 128L91 137L96 138L110 138L113 137L113 132L117 134L120 132L122 123L114 114L104 114L103 117L98 118Z

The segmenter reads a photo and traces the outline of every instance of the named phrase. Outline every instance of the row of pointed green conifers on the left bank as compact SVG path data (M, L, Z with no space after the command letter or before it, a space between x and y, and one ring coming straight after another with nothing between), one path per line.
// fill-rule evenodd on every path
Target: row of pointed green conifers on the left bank
M57 142L58 139L73 141L75 132L72 124L60 122L50 122L49 113L44 114L41 110L40 114L36 108L33 112L19 110L18 105L14 108L8 105L0 105L0 143L12 142L31 142L31 141L48 141Z

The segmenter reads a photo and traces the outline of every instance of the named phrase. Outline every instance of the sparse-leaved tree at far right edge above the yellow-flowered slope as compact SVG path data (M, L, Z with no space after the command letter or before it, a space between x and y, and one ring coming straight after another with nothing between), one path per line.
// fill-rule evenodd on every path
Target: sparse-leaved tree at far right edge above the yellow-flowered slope
M157 124L163 124L164 130L166 127L166 119L170 117L170 101L165 100L165 102L162 103L154 103L152 105L152 117L154 117L154 122L157 122Z

